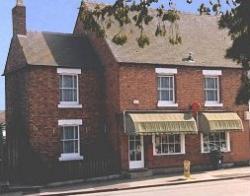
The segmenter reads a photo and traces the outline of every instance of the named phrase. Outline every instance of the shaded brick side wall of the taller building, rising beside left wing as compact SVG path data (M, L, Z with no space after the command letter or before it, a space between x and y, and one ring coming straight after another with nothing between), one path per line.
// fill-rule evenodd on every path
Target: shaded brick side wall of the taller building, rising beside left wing
M77 36L84 35L84 29L80 20L74 30ZM104 111L107 131L109 135L109 143L112 145L113 151L116 156L120 152L120 138L119 138L119 65L113 57L106 42L94 36L93 34L87 35L91 45L99 55L99 58L104 66Z

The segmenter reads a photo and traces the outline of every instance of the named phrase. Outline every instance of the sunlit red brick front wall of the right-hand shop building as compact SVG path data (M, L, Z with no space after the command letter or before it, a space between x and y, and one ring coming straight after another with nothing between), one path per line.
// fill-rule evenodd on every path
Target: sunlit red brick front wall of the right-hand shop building
M205 69L205 68L204 68ZM235 111L242 118L244 132L230 132L231 152L225 153L226 162L238 162L250 159L249 124L244 120L247 105L236 105L235 99L241 86L242 71L239 69L222 69L221 99L222 108L204 107L202 68L178 68L176 80L176 102L178 108L157 107L157 81L154 66L122 65L119 69L120 112L125 110L176 110L187 111L197 101L202 104L202 111L220 110ZM139 105L133 100L138 99ZM122 126L120 127L122 132ZM128 169L128 137L121 135L122 168ZM189 159L192 164L208 163L208 155L201 154L200 135L186 135L185 155L153 156L151 136L144 137L145 164L149 168L181 166L183 160Z

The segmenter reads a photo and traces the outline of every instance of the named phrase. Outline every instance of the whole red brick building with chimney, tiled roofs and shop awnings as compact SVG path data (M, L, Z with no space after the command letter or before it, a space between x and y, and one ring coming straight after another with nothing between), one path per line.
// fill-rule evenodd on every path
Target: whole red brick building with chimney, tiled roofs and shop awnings
M248 163L248 106L235 101L245 72L225 58L232 43L217 17L181 14L178 46L146 27L142 49L133 26L118 46L118 26L98 38L80 14L72 34L27 32L24 5L13 8L4 72L13 171L31 156L45 165L112 156L122 171L171 170L185 159L206 167L215 148L224 163Z

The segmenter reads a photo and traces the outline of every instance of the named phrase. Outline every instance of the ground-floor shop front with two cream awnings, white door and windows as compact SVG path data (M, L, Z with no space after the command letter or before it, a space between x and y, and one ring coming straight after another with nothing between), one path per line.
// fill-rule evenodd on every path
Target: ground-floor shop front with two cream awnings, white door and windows
M233 112L200 112L196 119L191 113L127 112L124 130L128 169L134 170L181 166L185 159L204 164L213 150L230 153L230 133L243 125Z

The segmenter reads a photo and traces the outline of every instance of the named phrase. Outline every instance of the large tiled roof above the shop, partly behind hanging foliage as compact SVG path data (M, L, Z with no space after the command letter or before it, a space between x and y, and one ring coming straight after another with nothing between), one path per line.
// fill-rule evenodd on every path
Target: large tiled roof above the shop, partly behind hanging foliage
M113 24L107 30L106 40L118 62L240 68L240 64L225 57L232 40L227 30L219 29L218 20L217 16L181 13L178 22L182 37L180 45L171 45L168 35L155 36L158 24L156 18L150 25L145 25L145 33L150 38L150 45L145 48L138 46L136 39L139 37L139 30L133 24L123 27L123 32L128 37L123 46L112 42L113 36L120 31L119 25ZM190 52L195 60L193 63L183 61Z

